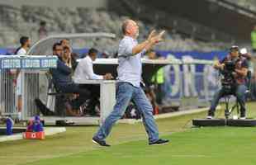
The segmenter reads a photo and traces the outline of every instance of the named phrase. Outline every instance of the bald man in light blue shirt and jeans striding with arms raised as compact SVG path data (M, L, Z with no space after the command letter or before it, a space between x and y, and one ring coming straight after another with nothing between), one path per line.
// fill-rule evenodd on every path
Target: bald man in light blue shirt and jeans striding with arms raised
M126 20L121 26L124 38L121 40L118 49L118 82L117 96L114 110L104 121L103 125L92 138L92 142L101 146L110 146L105 139L110 133L112 126L121 119L126 111L130 100L140 111L145 130L149 136L149 145L168 144L167 139L159 139L159 130L154 121L153 108L145 96L145 92L140 87L142 64L141 56L145 54L156 43L162 41L164 31L156 34L152 31L144 42L138 44L136 38L139 35L139 26L135 21Z

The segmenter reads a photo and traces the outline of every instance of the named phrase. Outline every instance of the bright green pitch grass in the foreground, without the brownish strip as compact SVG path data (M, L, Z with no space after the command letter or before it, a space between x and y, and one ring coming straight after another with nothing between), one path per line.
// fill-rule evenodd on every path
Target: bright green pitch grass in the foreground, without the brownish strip
M255 165L255 137L255 128L194 129L166 136L172 143L164 146L149 146L146 140L139 140L31 164Z

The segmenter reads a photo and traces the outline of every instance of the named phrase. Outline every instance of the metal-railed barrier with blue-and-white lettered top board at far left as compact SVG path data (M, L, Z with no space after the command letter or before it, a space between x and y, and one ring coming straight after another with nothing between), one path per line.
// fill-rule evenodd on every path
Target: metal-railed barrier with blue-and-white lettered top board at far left
M0 111L26 120L39 113L34 99L39 97L40 72L56 67L53 56L0 55ZM18 78L20 75L20 78ZM17 99L21 95L21 102ZM21 104L21 105L19 105ZM18 106L21 106L21 116Z

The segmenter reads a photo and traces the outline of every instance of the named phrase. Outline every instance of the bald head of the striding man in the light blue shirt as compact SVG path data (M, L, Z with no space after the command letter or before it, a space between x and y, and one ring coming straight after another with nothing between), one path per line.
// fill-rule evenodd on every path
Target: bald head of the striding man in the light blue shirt
M136 38L139 35L139 26L133 20L126 20L122 23L121 31L123 35L129 35L133 38Z

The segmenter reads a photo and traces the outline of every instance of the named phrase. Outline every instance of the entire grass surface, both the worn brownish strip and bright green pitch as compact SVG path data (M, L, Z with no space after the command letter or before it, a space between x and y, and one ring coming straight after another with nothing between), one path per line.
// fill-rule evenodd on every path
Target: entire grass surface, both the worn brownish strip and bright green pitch
M249 103L248 108L250 110L248 116L256 117L254 111L256 103ZM223 116L224 113L220 111L216 115ZM141 123L116 125L107 139L112 145L108 149L98 148L92 144L92 135L97 131L97 127L67 127L67 132L49 136L41 141L17 140L0 143L0 165L97 163L183 165L211 164L211 162L221 165L256 164L254 162L256 128L191 129L191 120L199 117L206 117L206 112L158 120L161 136L164 135L172 140L172 144L167 146L148 146L147 136ZM222 147L224 145L225 147ZM200 163L197 163L197 160L200 160ZM208 162L209 160L211 162Z

